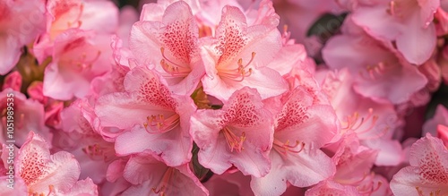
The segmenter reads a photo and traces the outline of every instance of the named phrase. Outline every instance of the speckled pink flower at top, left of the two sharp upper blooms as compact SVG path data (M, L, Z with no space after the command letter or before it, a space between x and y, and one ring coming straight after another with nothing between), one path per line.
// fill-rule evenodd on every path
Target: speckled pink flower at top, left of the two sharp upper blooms
M169 89L190 95L205 73L198 51L198 25L188 4L170 4L160 21L137 21L129 47L139 64L150 64Z

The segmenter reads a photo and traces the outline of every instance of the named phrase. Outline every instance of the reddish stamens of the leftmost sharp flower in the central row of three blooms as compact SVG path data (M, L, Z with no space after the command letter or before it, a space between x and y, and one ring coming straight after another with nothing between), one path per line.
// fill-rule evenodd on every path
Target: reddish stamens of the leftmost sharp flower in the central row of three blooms
M161 133L168 132L173 130L180 124L180 116L179 115L171 115L167 119L165 119L165 115L150 115L146 117L147 123L144 123L143 126L146 132L150 133ZM150 129L148 129L150 128Z

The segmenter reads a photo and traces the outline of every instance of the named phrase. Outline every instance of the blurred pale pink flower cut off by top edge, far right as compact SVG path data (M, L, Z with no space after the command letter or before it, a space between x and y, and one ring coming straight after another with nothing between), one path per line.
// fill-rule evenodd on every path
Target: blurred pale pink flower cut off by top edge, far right
M440 0L381 0L358 4L353 21L374 38L395 42L411 64L423 64L435 49L432 22Z

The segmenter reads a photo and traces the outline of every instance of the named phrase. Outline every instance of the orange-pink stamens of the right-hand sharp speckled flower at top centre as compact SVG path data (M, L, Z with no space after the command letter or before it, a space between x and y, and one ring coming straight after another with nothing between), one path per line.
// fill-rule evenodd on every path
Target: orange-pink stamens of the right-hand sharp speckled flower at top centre
M252 57L250 59L250 61L247 64L243 64L243 59L240 58L238 59L238 67L235 69L219 69L218 74L222 77L228 78L230 80L233 81L244 81L246 77L249 77L250 75L252 75L252 68L249 68L246 71L247 66L249 66L249 64L252 64L252 62L254 61L254 57L255 57L256 53L252 53Z

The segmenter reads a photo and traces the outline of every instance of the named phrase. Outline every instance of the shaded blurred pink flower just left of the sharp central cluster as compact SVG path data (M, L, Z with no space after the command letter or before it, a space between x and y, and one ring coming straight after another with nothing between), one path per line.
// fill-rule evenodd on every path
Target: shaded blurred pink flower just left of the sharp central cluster
M63 124L55 133L55 148L72 153L80 162L82 179L89 177L94 183L103 183L116 152L114 143L103 140L107 135L100 135L92 126L96 118L93 108L86 99L77 99L60 115Z

